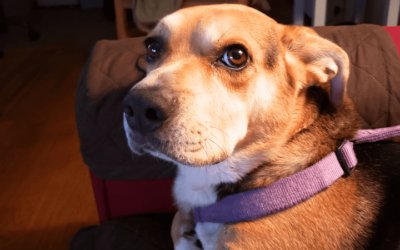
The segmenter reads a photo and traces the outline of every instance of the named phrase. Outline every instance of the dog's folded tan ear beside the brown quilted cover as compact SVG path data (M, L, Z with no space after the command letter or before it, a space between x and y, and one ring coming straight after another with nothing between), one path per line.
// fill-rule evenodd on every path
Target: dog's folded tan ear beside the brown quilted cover
M346 94L349 59L336 44L321 38L312 29L284 26L281 41L285 58L300 88L330 82L330 99L340 107Z

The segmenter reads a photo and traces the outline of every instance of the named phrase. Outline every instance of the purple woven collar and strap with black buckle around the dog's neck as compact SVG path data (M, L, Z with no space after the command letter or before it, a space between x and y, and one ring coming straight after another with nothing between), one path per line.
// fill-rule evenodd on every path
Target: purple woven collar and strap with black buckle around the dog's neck
M400 136L400 126L360 130L354 143L375 142ZM353 142L343 144L328 156L305 170L269 186L229 195L205 207L194 208L194 221L234 223L271 215L311 198L328 188L357 165Z

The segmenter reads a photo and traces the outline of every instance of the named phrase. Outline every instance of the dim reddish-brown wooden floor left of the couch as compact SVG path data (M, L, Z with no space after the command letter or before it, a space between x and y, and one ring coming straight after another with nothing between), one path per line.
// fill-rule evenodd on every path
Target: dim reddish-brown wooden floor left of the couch
M68 249L98 223L79 152L74 98L87 58L72 45L0 59L0 249Z

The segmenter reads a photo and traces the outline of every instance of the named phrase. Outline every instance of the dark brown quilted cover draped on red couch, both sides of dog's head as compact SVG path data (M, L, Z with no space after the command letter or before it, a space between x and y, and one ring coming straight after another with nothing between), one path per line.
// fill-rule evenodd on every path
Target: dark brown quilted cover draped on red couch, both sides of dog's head
M315 31L349 55L348 94L361 128L400 125L400 59L379 26L318 27ZM144 38L100 41L85 66L76 98L76 120L84 162L101 179L171 178L172 164L130 152L122 126L122 100L145 73Z

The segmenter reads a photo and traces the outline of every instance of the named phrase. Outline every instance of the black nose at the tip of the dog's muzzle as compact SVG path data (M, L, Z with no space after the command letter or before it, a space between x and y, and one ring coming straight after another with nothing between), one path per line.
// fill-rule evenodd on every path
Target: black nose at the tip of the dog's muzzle
M141 134L156 131L168 118L156 104L131 92L124 99L124 113L129 127Z

